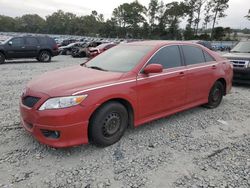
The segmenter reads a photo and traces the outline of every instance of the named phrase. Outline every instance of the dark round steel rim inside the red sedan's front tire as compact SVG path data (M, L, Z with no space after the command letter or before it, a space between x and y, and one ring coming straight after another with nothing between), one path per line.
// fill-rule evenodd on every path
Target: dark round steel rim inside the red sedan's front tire
M118 113L110 113L103 122L103 135L105 137L113 136L119 131L121 125L121 117Z

